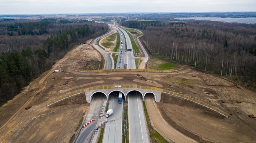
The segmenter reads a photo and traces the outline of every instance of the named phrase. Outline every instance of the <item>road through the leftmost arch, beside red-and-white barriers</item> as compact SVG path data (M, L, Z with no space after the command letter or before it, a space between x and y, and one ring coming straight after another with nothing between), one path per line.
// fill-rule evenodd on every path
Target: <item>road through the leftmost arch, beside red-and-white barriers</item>
M101 94L101 95L99 95ZM106 100L106 96L102 95L102 93L96 93L93 95L90 110L86 116L86 119L83 122L83 125L92 120L94 117L93 115L100 115L101 107L103 101ZM94 129L96 128L97 120L93 121L89 125L85 126L79 133L76 143L90 143L92 135L94 133ZM88 140L87 140L88 138Z

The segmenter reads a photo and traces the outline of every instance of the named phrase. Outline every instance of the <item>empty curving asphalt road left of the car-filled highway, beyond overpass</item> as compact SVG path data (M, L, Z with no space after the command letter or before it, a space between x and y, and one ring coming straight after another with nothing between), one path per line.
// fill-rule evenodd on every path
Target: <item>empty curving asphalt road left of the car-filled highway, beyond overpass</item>
M110 34L111 32L113 32L112 28L110 28L110 31L107 34L104 34L102 36L99 36L99 37L93 39L93 47L96 48L96 50L98 50L103 55L103 57L105 59L105 67L104 67L104 69L112 69L112 60L111 60L110 56L108 55L109 53L105 52L98 45L95 45L95 43L97 43L98 39L100 39L103 36L106 36L106 35Z

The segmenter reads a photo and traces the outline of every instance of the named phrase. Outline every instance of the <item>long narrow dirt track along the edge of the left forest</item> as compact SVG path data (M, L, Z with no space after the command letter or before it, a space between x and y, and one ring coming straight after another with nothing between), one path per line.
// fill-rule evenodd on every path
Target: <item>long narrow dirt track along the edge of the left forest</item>
M82 45L80 45L80 46L82 46ZM77 48L79 48L80 46L78 46L78 47L72 49L71 51L69 51L69 52L66 54L66 56L65 56L64 58L62 58L61 60L59 60L57 63L55 63L55 64L53 65L52 69L55 69L57 66L59 66L63 61L65 61L65 60L67 59L67 57L69 57L69 56L70 56ZM29 100L28 100L20 109L18 109L18 111L15 112L14 115L13 115L7 122L5 122L5 124L3 124L2 127L0 127L0 132L1 132L9 123L11 123L12 121L14 121L14 120L17 118L18 115L20 115L20 113L23 111L23 109L24 109L26 106L28 106L28 104L31 103L31 101L34 99L35 95L36 95L38 92L42 91L42 94L44 93L44 91L45 91L44 80L51 74L51 71L52 71L52 70L50 70L50 71L48 72L48 74L46 74L44 77L42 77L41 80L39 80L39 86L40 86L39 89L38 89L31 97L29 97ZM32 83L33 83L33 82L32 82ZM30 83L30 84L32 84L32 83Z

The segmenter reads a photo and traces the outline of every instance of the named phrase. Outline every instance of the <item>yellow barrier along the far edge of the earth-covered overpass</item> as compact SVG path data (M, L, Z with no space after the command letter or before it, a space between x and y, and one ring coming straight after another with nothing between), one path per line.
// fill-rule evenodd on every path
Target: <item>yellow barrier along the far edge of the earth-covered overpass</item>
M77 72L175 72L184 69L183 67L177 69L73 69Z

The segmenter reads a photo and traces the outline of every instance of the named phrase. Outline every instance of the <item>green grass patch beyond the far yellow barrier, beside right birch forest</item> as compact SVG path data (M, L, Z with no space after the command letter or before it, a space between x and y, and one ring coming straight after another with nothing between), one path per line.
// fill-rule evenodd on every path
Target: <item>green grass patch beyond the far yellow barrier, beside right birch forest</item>
M177 69L180 67L159 56L152 56L149 66L150 69Z

